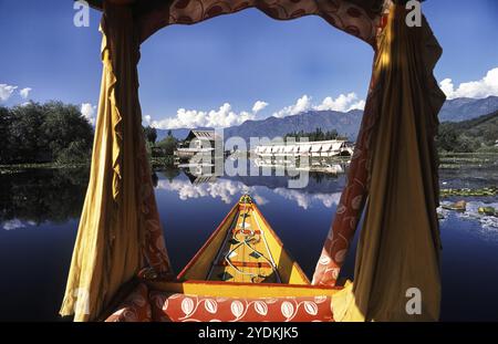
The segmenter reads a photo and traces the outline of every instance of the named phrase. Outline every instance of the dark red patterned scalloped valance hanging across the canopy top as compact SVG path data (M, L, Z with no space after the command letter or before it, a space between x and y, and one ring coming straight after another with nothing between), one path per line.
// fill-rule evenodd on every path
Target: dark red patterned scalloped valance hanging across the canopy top
M255 8L277 20L319 15L372 46L386 0L173 0L139 15L141 40L173 24L195 24Z

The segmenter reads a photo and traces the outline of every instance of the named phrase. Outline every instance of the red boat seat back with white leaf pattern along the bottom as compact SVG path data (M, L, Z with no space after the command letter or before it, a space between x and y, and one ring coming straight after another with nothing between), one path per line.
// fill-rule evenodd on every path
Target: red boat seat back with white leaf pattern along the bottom
M331 322L330 296L215 298L149 291L141 283L106 322Z

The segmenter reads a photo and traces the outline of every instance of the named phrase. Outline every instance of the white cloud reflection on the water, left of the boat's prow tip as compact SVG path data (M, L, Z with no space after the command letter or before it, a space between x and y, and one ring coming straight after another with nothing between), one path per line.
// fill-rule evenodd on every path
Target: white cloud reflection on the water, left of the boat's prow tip
M188 180L174 179L173 181L168 180L159 180L157 183L157 188L167 191L175 191L178 194L179 199L187 200L190 198L201 198L201 197L211 197L219 198L225 204L232 204L234 196L240 194L251 194L252 197L258 201L258 198L263 202L259 202L263 205L266 199L261 196L258 196L255 192L253 187L247 187L240 181L232 181L227 179L218 179L216 183L206 183L193 185Z

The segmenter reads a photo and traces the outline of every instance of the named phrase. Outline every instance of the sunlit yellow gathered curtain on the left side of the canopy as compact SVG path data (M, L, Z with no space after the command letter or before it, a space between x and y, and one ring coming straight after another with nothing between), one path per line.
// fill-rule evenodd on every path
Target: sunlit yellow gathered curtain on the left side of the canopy
M148 263L169 269L145 155L139 38L129 7L105 1L103 74L89 188L61 315L92 321Z

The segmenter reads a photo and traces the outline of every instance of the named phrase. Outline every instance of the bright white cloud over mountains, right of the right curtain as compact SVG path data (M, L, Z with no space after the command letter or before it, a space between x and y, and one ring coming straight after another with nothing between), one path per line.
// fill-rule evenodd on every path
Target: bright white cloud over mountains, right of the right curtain
M498 96L498 67L488 71L481 80L461 83L456 88L452 79L443 80L439 86L448 100L458 97L484 98L490 95Z

